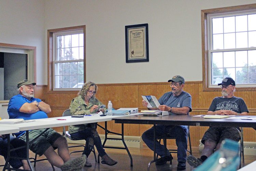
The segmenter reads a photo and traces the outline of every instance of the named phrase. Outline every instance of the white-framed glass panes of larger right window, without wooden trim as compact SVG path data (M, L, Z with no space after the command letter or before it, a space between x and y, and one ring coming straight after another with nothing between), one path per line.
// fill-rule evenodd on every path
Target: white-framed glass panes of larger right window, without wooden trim
M232 77L237 85L256 86L256 14L212 15L209 21L211 85Z

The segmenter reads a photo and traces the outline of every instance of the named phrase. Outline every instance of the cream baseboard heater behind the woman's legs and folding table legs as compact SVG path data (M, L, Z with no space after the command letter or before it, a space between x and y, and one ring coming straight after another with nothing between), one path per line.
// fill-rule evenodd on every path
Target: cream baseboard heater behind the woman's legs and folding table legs
M103 143L105 140L105 135L100 134L101 142ZM108 135L108 138L121 138L117 135ZM141 137L137 136L124 136L124 141L127 147L133 147L133 148L142 148L142 139ZM70 139L67 139L68 143L75 143L75 144L85 144L85 140L76 140L72 141ZM122 140L107 140L105 143L106 146L115 146L115 147L124 147L124 144Z

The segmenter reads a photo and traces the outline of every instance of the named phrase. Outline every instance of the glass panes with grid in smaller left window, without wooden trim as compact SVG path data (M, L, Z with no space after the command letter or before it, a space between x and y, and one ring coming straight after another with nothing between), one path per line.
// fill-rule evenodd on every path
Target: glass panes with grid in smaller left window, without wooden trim
M54 40L54 88L81 88L84 83L84 33L61 33Z

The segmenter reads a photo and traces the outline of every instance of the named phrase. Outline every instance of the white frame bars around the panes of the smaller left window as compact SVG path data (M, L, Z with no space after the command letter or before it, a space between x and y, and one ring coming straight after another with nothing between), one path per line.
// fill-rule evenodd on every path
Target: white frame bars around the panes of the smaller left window
M83 29L79 30L69 30L69 31L62 31L62 32L54 32L53 33L53 90L54 91L69 91L69 90L80 90L81 88L55 88L55 64L56 63L66 63L66 62L84 62L84 59L76 59L76 60L56 60L57 59L57 37L58 36L64 36L64 35L70 35L70 34L79 34L84 33ZM85 34L85 33L84 33ZM85 48L85 42L84 42L84 48ZM85 54L84 54L85 58ZM85 65L85 62L84 62ZM85 74L85 71L84 71ZM84 80L85 82L85 80Z

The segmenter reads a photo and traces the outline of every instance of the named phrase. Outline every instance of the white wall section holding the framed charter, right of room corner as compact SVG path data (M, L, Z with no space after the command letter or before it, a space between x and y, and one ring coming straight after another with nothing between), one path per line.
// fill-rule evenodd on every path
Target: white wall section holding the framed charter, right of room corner
M86 25L86 81L166 82L176 74L200 81L201 10L250 3L255 0L47 0L45 29ZM126 63L125 26L143 23L149 62Z

